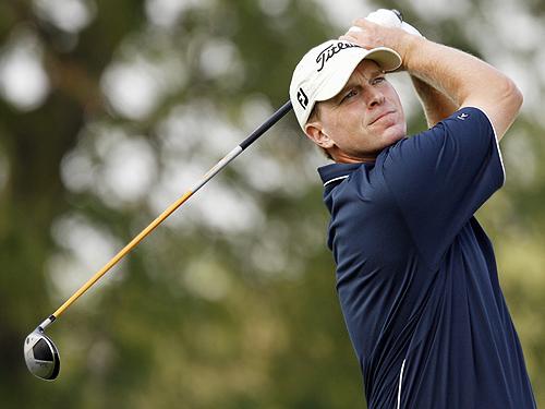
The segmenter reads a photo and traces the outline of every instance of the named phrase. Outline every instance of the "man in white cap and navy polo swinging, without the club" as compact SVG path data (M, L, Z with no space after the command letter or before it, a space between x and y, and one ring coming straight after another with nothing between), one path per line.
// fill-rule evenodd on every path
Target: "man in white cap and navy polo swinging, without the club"
M535 408L494 252L473 217L504 183L517 86L462 51L356 20L293 73L318 169L337 290L373 408ZM385 72L405 70L429 129L405 136Z

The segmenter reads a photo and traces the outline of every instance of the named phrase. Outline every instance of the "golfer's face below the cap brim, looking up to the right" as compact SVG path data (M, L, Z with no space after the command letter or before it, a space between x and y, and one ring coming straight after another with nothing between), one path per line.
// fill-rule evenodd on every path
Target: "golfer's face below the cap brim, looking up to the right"
M396 89L370 60L358 65L339 94L320 103L319 121L337 147L337 161L374 158L407 133Z

